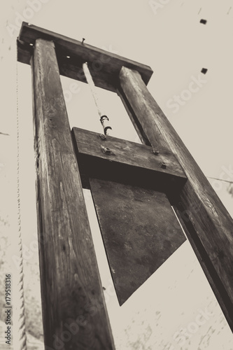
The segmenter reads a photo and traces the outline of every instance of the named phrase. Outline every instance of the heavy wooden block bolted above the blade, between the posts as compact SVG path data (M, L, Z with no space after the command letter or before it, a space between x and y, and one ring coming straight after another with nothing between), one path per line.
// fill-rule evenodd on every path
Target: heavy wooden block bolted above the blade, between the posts
M164 192L174 202L186 181L182 167L174 155L161 151L155 155L150 146L106 136L74 127L73 143L83 186L89 188L88 178L97 177ZM104 153L105 149L110 154ZM162 168L162 162L167 168Z

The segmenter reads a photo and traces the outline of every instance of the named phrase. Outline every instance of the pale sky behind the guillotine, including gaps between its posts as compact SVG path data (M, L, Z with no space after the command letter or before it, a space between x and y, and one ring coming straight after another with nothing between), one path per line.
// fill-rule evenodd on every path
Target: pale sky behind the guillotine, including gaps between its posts
M230 44L233 1L38 0L31 1L34 10L26 11L33 8L29 3L29 0L10 0L1 4L0 55L1 216L6 217L10 211L7 190L10 159L15 159L11 148L15 145L18 85L21 221L25 246L30 246L36 237L36 207L29 66L17 64L16 83L15 38L23 17L39 27L80 41L85 38L90 45L148 64L154 71L148 90L233 216L231 185L225 182L233 178ZM200 24L202 18L207 20L206 25ZM201 73L202 68L208 69L206 74ZM61 80L71 127L101 132L87 85L76 81L73 88L73 80L64 77ZM139 141L118 96L98 90L111 120L113 136ZM232 350L232 332L188 241L127 303L118 306L88 191L85 200L117 349ZM32 261L36 265L36 252L25 262L26 286ZM39 295L36 279L34 288ZM202 325L197 323L200 315L206 321Z

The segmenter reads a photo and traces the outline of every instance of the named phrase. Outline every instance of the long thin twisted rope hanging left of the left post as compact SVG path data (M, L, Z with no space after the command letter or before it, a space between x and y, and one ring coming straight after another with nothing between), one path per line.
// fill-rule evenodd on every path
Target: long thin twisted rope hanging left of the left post
M22 235L20 217L20 120L19 120L19 99L18 99L18 70L17 70L17 45L16 45L16 134L17 134L17 228L18 228L18 253L20 256L19 276L17 281L19 314L17 315L18 334L17 349L27 350L27 336L25 330L25 307L24 307L24 273L22 258Z

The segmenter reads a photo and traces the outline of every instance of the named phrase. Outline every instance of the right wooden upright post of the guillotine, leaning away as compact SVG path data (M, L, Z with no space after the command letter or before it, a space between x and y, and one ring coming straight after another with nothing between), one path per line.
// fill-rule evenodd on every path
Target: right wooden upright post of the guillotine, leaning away
M151 96L138 72L127 67L120 71L124 91L153 147L169 146L180 162L188 181L181 190L176 211L201 263L220 307L233 329L233 221L181 141L166 116Z

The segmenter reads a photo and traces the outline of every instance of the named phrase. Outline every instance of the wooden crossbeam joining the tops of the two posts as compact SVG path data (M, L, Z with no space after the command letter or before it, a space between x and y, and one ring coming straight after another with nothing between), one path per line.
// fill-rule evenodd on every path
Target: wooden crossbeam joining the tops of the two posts
M29 64L32 52L30 43L34 44L37 38L43 38L55 43L57 62L62 75L86 83L83 74L83 63L88 62L94 84L107 90L115 91L118 74L122 66L128 66L139 71L146 84L153 73L152 69L146 64L95 48L92 45L81 43L78 40L54 33L53 31L29 25L26 22L22 22L20 35L17 40L18 61Z

